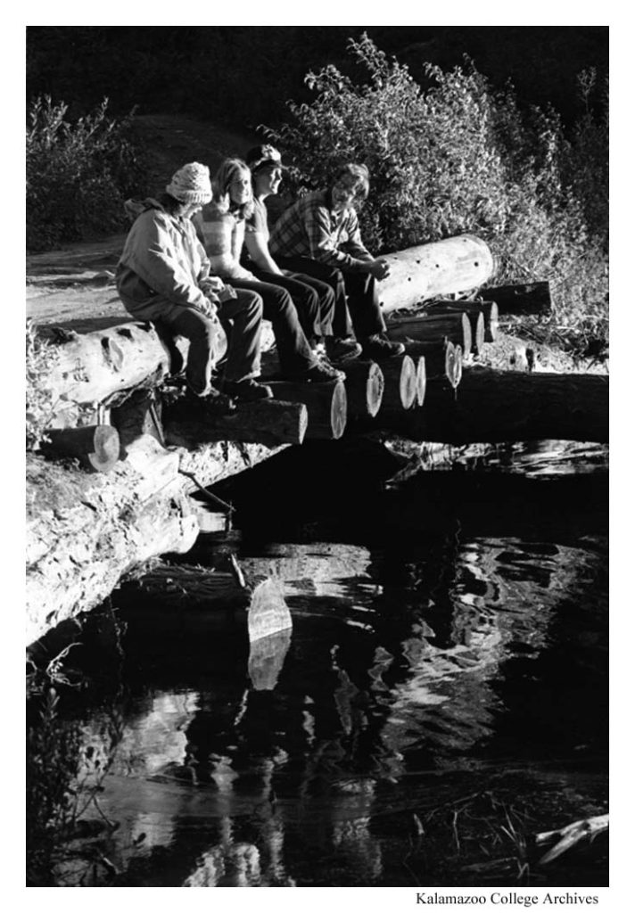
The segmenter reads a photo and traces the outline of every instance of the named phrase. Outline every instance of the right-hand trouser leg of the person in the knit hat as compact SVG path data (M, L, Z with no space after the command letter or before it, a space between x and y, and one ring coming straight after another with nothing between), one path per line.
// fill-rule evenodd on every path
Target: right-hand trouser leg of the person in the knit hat
M256 292L236 289L237 297L218 306L218 317L228 328L226 381L245 381L260 373L262 299Z

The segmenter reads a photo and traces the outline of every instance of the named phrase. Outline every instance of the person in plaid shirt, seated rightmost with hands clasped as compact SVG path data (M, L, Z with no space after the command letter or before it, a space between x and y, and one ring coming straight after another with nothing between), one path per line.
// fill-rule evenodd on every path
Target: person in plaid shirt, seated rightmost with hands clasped
M354 205L368 195L365 165L346 164L327 190L302 196L273 226L270 252L282 269L322 279L335 292L333 346L355 337L367 358L405 352L386 338L376 283L389 273L386 260L365 248ZM328 352L328 350L327 350Z

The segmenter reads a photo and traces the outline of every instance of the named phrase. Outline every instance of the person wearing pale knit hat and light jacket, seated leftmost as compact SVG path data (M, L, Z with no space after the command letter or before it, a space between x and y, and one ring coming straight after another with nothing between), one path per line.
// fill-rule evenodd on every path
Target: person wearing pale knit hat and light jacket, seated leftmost
M262 299L211 274L191 221L211 198L209 169L192 162L175 172L158 199L126 201L126 211L135 217L115 280L132 317L152 320L159 332L189 340L188 394L230 411L235 408L231 400L211 383L215 364L226 353L224 381L233 398L268 399L272 393L256 381ZM220 320L231 323L229 340Z

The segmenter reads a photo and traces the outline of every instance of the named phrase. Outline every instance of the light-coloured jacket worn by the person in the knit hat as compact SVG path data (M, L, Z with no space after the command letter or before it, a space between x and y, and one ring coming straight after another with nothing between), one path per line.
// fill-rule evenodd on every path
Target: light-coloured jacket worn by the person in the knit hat
M205 310L199 284L209 276L205 248L190 219L167 213L156 200L143 201L126 238L116 271L125 309L139 320L158 320L178 308Z

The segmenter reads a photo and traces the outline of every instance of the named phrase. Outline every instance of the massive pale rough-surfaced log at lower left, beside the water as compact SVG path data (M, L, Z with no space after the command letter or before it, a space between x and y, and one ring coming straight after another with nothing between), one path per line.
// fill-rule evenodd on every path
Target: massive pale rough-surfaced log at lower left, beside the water
M276 452L228 442L167 451L148 435L125 450L108 475L27 454L26 645L102 603L144 561L189 551L196 482L212 485Z

